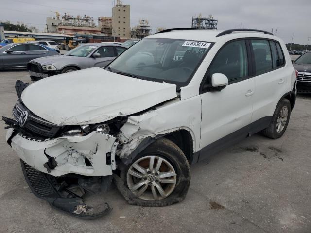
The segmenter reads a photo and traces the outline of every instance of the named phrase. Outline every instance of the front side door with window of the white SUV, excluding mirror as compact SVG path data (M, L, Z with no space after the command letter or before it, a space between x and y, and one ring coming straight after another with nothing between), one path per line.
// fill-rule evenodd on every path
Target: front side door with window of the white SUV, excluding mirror
M222 47L208 68L205 86L210 85L214 73L225 74L229 83L221 91L201 90L200 150L203 149L203 155L204 149L225 146L237 138L234 132L237 133L250 124L255 80L249 77L248 72L248 55L244 40L229 42ZM247 133L243 136L246 135ZM200 153L200 158L202 157Z

